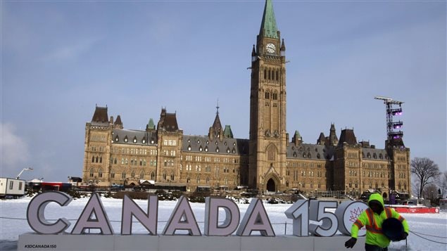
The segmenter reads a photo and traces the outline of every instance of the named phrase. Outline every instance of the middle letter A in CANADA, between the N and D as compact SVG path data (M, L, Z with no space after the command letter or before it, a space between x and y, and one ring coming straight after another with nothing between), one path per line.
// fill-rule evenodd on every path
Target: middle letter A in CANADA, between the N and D
M163 236L174 236L176 230L187 230L190 236L201 236L196 217L191 210L191 206L187 198L180 197L179 202L175 205L175 209L171 217L163 229Z

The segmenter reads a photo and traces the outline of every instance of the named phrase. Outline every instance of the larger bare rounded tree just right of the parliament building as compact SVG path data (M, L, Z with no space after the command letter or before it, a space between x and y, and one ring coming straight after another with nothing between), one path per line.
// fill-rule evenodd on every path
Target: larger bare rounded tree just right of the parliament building
M411 173L416 175L416 179L420 183L417 198L420 198L420 195L422 195L424 187L436 181L438 176L441 174L441 172L439 172L438 165L436 165L433 160L430 160L428 157L415 157L411 160Z

